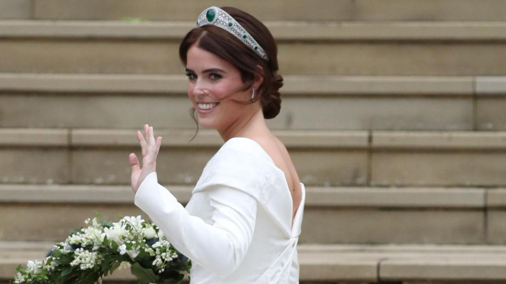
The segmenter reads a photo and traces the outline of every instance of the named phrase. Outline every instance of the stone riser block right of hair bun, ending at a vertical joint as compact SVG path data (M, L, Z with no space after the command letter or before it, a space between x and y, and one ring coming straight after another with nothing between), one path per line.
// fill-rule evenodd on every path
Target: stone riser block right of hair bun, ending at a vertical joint
M472 109L471 98L286 98L277 117L278 123L273 126L288 129L471 130Z

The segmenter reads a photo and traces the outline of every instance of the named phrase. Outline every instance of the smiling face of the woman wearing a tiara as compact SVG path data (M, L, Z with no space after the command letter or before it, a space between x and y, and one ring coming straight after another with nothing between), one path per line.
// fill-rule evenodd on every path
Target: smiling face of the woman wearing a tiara
M249 90L237 91L244 84L239 70L197 44L188 50L186 72L188 97L203 128L225 131L253 111L254 105L260 106L259 101L252 105L235 102L251 98Z

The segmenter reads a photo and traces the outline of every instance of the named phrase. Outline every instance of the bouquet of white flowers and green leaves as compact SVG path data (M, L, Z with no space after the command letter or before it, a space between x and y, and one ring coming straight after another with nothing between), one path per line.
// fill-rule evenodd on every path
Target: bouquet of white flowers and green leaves
M191 262L179 253L154 224L141 216L119 222L88 218L88 227L75 229L55 244L43 261L19 265L15 283L102 283L117 268L130 267L141 284L180 283Z

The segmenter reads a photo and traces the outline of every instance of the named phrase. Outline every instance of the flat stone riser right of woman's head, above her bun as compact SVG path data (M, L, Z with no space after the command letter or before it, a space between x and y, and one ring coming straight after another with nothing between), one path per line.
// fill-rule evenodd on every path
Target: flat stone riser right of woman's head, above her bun
M280 44L278 59L282 74L503 75L503 49L500 42L298 42Z

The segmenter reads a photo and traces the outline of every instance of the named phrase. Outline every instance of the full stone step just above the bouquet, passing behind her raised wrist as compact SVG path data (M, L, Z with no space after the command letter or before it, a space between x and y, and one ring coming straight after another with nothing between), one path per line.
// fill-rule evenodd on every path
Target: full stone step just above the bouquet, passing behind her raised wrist
M191 197L193 185L164 185ZM0 184L0 240L64 240L95 212L148 219L133 200L128 185ZM504 245L505 217L505 188L307 186L300 242Z

